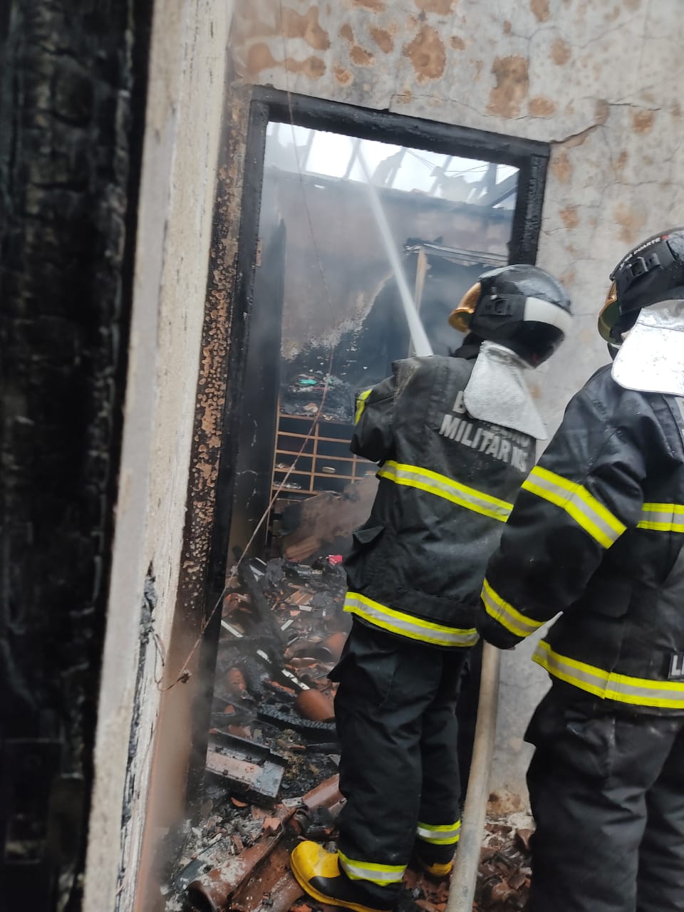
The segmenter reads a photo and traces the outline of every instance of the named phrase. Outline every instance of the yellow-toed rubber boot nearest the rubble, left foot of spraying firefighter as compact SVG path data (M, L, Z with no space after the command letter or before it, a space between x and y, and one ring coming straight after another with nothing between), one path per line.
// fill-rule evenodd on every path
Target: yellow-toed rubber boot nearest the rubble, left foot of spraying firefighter
M337 852L322 845L299 843L290 855L290 867L297 883L320 903L355 909L356 912L389 912L392 904L381 906L368 896L363 881L351 880L339 866Z

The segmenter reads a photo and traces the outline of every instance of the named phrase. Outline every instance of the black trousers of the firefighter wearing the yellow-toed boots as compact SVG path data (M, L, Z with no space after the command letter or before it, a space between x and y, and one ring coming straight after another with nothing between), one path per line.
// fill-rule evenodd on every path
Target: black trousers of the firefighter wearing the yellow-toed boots
M440 649L355 620L337 668L340 865L387 907L414 844L451 859L460 829L456 702L465 649Z

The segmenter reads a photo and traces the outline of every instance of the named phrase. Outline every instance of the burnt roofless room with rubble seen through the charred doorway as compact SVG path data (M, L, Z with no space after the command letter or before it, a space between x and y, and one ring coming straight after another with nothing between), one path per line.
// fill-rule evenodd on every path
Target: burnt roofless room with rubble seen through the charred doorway
M263 119L233 471L218 507L230 518L202 823L170 853L167 910L230 900L246 912L264 902L259 889L289 908L301 890L287 878L288 839L334 838L343 799L328 675L350 627L342 561L377 486L377 466L349 451L355 395L412 354L368 178L436 354L461 345L447 317L478 275L516 250L534 259L520 236L527 159L463 134L450 143L437 130L413 145L410 130L359 129L338 115L320 124L287 106ZM467 755L476 692L465 700ZM285 820L267 889L226 869L226 858L258 855Z

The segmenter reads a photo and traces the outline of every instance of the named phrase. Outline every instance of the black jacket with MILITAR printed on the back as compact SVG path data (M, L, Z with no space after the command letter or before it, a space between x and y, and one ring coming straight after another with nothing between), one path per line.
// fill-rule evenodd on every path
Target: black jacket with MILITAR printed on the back
M396 362L359 395L351 442L380 467L372 512L345 561L345 610L439 647L477 642L487 557L535 456L533 438L468 414L473 364Z

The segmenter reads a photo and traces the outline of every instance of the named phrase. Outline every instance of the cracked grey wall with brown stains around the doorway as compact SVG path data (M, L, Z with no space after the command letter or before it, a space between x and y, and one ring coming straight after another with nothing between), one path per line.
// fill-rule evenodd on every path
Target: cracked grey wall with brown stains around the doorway
M683 221L680 12L679 0L238 0L233 55L244 83L552 144L538 264L571 290L577 326L536 378L554 426L606 362L596 312L610 269ZM504 799L524 793L523 729L545 687L529 651L503 656L492 788Z

